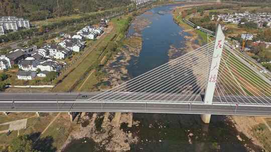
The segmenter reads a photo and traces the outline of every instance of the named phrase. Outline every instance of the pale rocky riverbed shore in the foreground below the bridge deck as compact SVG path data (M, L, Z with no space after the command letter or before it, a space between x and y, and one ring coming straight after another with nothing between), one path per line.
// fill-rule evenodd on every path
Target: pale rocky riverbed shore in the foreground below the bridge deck
M69 135L63 145L64 151L73 140L81 138L92 139L97 144L96 148L106 151L127 151L130 150L130 144L138 142L137 136L121 128L123 124L131 127L138 123L132 122L132 113L82 112L77 121L80 127Z

